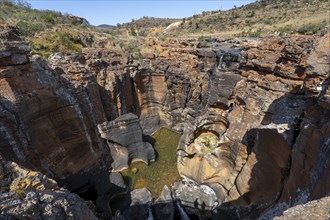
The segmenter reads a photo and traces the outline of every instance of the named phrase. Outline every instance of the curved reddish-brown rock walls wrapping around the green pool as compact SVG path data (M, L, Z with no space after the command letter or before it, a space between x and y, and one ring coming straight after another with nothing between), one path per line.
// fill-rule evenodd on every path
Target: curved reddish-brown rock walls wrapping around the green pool
M243 207L234 215L329 191L327 32L210 48L150 41L155 52L142 60L118 48L85 48L47 62L29 61L14 28L1 26L0 35L0 152L7 160L72 190L101 186L95 171L113 161L97 125L134 113L145 134L160 125L183 132L179 172L213 189L218 204ZM103 203L107 190L100 190ZM226 210L223 204L218 213Z

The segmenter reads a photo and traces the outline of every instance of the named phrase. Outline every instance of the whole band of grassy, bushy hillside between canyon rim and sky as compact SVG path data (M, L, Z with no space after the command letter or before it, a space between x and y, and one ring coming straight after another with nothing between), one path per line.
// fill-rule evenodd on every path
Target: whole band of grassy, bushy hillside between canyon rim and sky
M0 21L16 25L32 42L32 53L79 53L81 48L112 45L142 59L148 38L198 38L208 47L213 37L314 34L330 24L328 0L260 0L228 11L210 11L183 19L143 17L116 26L84 25L83 18L50 10L36 10L24 0L0 0ZM168 25L178 27L164 33ZM207 37L205 37L207 36ZM149 51L150 52L150 51ZM159 51L161 53L161 51Z

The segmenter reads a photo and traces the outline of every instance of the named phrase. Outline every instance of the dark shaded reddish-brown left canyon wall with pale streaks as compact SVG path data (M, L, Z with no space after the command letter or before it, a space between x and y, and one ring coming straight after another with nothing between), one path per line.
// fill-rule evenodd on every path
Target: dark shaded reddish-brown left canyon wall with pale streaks
M14 45L25 44L12 27L0 32L5 44L12 45L12 39L18 42ZM16 55L27 57L28 50L15 46L10 51L0 65L1 155L73 191L98 185L100 176L108 176L102 158L109 153L96 127L105 114L95 77L78 63L65 71L62 66L53 70L38 56L17 63ZM64 66L68 62L62 60ZM99 190L109 193L109 187L104 183ZM104 212L110 215L108 208Z

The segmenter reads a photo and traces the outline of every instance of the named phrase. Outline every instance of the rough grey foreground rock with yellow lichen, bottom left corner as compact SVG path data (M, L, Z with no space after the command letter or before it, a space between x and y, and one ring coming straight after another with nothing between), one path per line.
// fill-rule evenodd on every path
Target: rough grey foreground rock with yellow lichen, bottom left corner
M14 162L0 164L1 219L97 219L77 195Z

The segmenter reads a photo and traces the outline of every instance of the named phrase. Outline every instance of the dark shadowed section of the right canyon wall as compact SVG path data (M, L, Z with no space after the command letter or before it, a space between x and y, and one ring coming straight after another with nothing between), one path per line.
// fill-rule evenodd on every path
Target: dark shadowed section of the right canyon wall
M245 134L249 155L236 179L241 196L214 210L212 219L271 219L290 206L327 195L328 80L317 95L309 96L312 91L304 89L275 100L262 125Z

